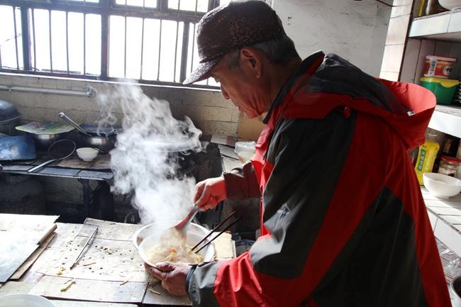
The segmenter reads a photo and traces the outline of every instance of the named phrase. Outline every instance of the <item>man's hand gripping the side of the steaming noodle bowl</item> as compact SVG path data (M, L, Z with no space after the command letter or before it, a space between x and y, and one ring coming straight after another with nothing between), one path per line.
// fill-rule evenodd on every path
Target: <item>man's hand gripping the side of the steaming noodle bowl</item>
M145 269L153 277L162 281L162 287L177 296L186 295L186 277L191 266L184 263L159 262L155 267L144 264Z

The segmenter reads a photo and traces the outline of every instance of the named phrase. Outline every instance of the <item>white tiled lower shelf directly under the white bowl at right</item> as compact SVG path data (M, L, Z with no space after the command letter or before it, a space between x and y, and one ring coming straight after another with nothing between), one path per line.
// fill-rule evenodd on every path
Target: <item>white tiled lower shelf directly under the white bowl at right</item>
M461 194L450 199L438 199L423 186L421 193L435 237L461 255Z

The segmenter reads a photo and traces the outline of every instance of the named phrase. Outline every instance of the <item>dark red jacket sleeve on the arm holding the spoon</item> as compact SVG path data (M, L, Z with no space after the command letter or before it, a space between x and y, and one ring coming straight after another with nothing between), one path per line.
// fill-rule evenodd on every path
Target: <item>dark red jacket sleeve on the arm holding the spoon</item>
M250 199L261 196L260 186L251 162L243 167L235 167L223 176L229 199Z

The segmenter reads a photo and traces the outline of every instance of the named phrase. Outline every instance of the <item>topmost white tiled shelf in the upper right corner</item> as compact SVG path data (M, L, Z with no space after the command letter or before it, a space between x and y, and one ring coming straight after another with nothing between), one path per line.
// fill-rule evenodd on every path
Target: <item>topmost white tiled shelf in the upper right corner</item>
M414 18L409 37L461 42L461 9Z

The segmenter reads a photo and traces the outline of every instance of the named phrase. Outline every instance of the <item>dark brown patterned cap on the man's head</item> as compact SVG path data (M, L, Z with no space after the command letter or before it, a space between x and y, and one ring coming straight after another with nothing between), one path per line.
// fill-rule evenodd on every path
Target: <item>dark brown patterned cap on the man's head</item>
M210 70L226 53L278 38L282 21L264 1L233 1L205 14L197 26L200 64L183 84L209 77Z

